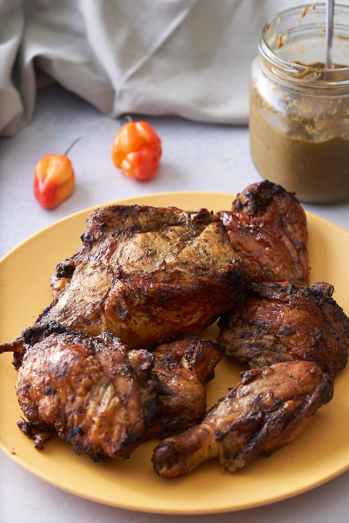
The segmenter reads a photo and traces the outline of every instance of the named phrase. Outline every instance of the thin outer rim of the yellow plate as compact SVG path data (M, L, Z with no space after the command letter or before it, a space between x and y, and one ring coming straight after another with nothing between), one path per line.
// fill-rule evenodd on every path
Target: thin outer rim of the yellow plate
M74 219L74 218L78 217L78 215L80 215L80 214L87 214L87 213L91 214L91 212L93 212L94 210L96 210L98 208L107 207L107 206L110 206L110 205L113 205L113 204L120 204L120 205L122 205L122 204L131 204L131 203L126 203L126 202L130 202L130 200L135 201L134 204L138 204L137 201L139 200L139 204L142 204L142 200L147 200L147 199L152 198L152 197L161 197L161 196L163 196L163 197L172 197L172 196L174 196L174 197L181 197L182 195L195 195L195 197L200 196L200 195L214 195L215 197L224 197L224 198L231 197L232 199L234 199L236 197L236 193L228 193L228 192L169 191L169 192L155 192L155 193L150 193L150 194L146 194L146 195L139 195L139 196L131 196L131 197L128 197L128 198L112 200L112 201L107 202L107 203L90 206L88 208L80 209L79 211L76 211L74 213L68 214L67 216L65 216L63 218L60 218L59 220L56 220L53 223L50 223L49 225L46 225L44 228L40 229L39 231L31 234L30 236L25 238L25 240L22 240L15 247L11 248L10 251L8 251L0 259L0 265L2 265L2 263L9 256L11 256L11 254L13 254L15 251L20 249L23 245L29 243L33 238L39 236L40 234L42 234L43 232L45 232L47 230L50 230L50 229L54 228L55 226L57 226L57 225L59 225L61 223L64 223L65 221L69 221L71 219ZM346 229L342 228L340 225L337 225L337 224L331 222L330 220L327 220L327 219L325 219L325 218L323 218L323 217L321 217L321 216L319 216L319 215L317 215L315 213L312 213L312 212L309 212L309 211L305 211L305 212L306 212L307 218L308 218L308 216L315 217L316 220L319 220L320 222L323 222L323 223L330 224L332 227L334 226L336 229L338 229L341 232L343 231L349 237L349 231L347 231ZM194 508L193 510L190 510L188 508L187 509L178 508L176 510L173 510L173 509L168 509L167 510L167 509L162 509L162 508L155 509L154 507L153 508L144 507L144 506L137 507L137 506L134 506L134 505L132 505L130 503L122 503L122 501L118 501L116 503L112 503L111 501L106 501L106 500L102 500L101 501L100 496L97 497L97 496L94 496L94 495L91 495L91 494L85 494L85 493L83 493L81 491L78 491L74 487L70 487L70 486L66 486L66 485L62 484L59 480L55 480L54 478L52 478L52 476L49 476L47 473L44 473L44 472L41 472L40 470L35 469L32 465L27 464L26 461L24 461L21 458L19 458L18 456L16 456L16 454L11 454L10 450L7 448L7 446L5 446L2 443L2 441L0 441L0 450L2 450L7 457L9 457L11 460L13 460L15 463L17 463L21 468L25 469L26 471L28 471L29 473L33 474L34 476L39 477L41 480L43 480L43 481L53 485L54 487L60 488L61 490L65 491L65 492L68 492L70 494L73 494L75 496L78 496L78 497L81 497L81 498L84 498L84 499L88 499L89 501L100 503L102 505L113 506L113 507L127 509L127 510L134 510L134 511L137 511L139 513L143 512L143 513L148 513L148 514L169 514L169 515L223 514L223 513L238 511L238 510L245 510L245 509L248 509L248 508L255 508L255 507L270 505L272 503L276 503L278 501L282 501L284 499L288 499L288 498L297 496L299 494L308 492L310 490L313 490L313 488L317 488L318 486L323 485L323 484L331 481L335 477L338 477L339 475L341 475L345 471L349 470L349 462L348 462L347 464L343 465L338 470L330 473L327 477L325 477L323 479L313 481L313 482L311 482L310 484L308 484L306 486L295 487L292 491L289 491L287 493L281 493L281 494L278 494L278 495L274 494L273 497L270 497L270 498L265 499L263 501L255 501L255 502L250 501L250 502L241 503L239 505L234 505L232 507L223 507L223 508L222 507L217 507L216 509L215 508L212 508L212 509L205 508L205 509L201 510L201 509L198 509L198 508Z

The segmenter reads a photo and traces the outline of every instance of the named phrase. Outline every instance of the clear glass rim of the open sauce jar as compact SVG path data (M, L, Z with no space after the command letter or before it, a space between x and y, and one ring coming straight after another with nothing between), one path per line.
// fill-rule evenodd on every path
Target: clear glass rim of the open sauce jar
M312 67L311 65L302 65L300 63L292 62L290 60L287 60L286 58L282 58L280 54L276 53L272 46L269 43L269 30L270 28L273 28L277 26L278 22L280 20L287 20L292 18L299 19L298 24L300 27L300 20L301 18L305 17L306 13L313 9L316 10L316 14L323 15L323 20L325 21L325 12L326 12L326 4L306 4L306 5L300 5L297 7L291 7L289 9L285 9L284 11L281 11L280 13L277 13L272 18L270 18L266 24L264 25L262 31L260 32L260 35L258 37L258 49L261 55L264 59L266 59L268 62L271 63L273 67L276 67L278 70L282 71L282 73L289 77L289 79L296 81L297 83L301 84L313 84L313 81L309 82L309 77L307 78L296 78L296 75L299 75L305 71L305 67L308 72L313 72L316 74L318 71L317 67ZM348 31L348 39L349 39L349 6L343 5L343 4L335 4L334 5L334 28L336 27L336 16L343 16L347 19L347 26L345 26L345 29ZM313 24L314 27L316 27L315 24ZM343 26L341 26L343 28ZM281 38L281 35L280 35ZM281 42L282 46L282 42ZM280 47L281 47L280 46ZM321 78L317 78L317 83L320 86L323 84L325 87L327 84L329 84L331 87L333 87L333 82L340 83L340 84L348 84L349 83L349 65L346 67L336 67L336 69L322 69L322 75ZM334 79L335 76L335 79Z

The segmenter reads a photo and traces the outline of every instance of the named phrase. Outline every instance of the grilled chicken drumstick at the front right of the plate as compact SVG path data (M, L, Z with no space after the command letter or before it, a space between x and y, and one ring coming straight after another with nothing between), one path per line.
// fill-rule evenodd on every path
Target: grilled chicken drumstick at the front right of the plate
M218 458L234 472L292 441L332 394L327 374L308 361L241 372L241 381L207 412L201 425L155 448L154 468L160 476L174 477Z

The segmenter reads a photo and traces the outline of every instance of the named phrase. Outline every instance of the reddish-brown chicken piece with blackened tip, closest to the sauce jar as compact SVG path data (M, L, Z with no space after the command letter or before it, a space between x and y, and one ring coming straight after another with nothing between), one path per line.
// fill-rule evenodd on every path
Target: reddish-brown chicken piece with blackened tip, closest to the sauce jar
M307 219L293 193L265 180L240 192L231 212L219 215L254 281L308 285Z

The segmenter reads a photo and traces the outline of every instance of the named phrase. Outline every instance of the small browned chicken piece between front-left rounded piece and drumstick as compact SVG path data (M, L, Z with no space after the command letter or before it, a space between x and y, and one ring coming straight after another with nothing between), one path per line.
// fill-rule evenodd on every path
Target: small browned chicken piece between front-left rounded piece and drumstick
M186 338L153 351L154 377L159 381L157 412L145 439L166 438L200 423L206 412L205 381L225 348L208 339Z

